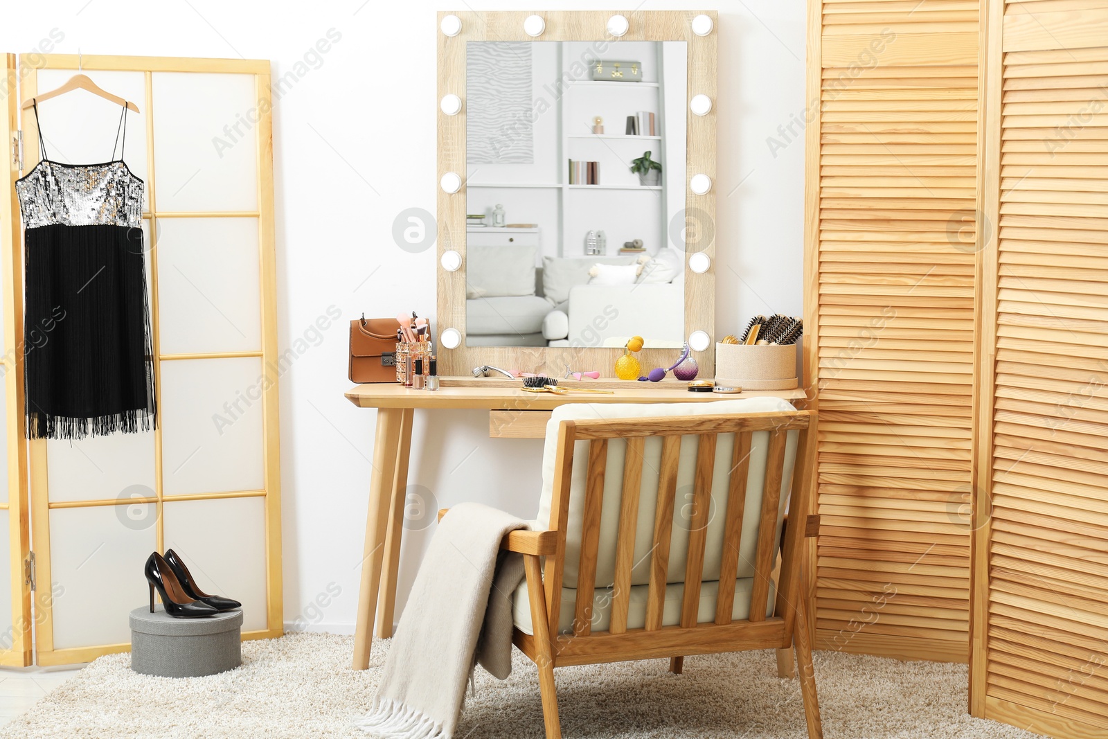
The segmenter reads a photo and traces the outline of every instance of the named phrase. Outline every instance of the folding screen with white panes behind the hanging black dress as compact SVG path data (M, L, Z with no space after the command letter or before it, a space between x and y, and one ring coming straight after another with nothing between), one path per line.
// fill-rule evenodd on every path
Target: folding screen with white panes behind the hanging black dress
M277 351L269 62L44 54L21 64L17 89L8 58L0 90L0 133L16 134L4 135L12 164L0 207L9 464L0 664L30 660L32 623L40 665L129 649L127 613L148 597L143 563L170 547L207 588L243 602L244 638L280 636L277 381L289 359ZM13 181L38 162L39 122L24 110L17 132L17 102L79 68L141 111L129 114L125 160L145 182L157 428L24 447ZM55 161L107 158L117 106L82 92L38 110ZM51 328L31 328L28 341L51 340Z

